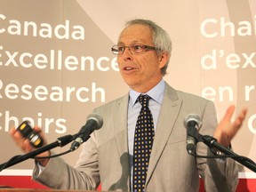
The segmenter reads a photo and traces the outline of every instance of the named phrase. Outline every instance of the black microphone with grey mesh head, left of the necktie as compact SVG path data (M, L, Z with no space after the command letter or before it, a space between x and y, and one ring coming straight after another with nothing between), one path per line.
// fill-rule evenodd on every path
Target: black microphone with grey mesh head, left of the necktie
M91 115L87 116L86 124L84 124L84 126L77 133L76 140L72 142L70 150L74 151L76 148L79 148L82 143L90 138L90 135L94 130L100 129L102 124L102 116L96 113L92 113Z

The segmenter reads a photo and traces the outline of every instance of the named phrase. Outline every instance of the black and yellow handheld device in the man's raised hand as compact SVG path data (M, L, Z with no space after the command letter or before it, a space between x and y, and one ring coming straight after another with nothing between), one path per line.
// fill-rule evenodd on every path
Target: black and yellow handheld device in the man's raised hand
M34 148L40 148L43 146L44 140L32 129L28 121L24 121L20 124L17 131L19 131L23 137L27 138L30 141L31 146Z

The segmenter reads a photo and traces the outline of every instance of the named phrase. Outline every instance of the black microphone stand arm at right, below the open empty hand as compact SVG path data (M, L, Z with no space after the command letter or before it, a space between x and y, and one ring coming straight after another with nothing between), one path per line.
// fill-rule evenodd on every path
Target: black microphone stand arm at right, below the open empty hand
M220 143L217 142L217 140L209 135L201 135L199 134L199 141L203 141L206 146L209 148L216 148L220 152L224 153L225 155L230 156L236 162L243 164L245 167L249 168L253 172L256 172L256 164L247 157L244 156L238 156L236 153L234 153L232 150L225 148L224 146L220 145ZM223 156L224 157L224 156Z

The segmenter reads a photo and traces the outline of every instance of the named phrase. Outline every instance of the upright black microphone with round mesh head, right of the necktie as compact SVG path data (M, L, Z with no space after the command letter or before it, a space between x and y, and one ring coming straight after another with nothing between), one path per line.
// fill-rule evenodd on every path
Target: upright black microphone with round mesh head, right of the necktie
M198 139L198 131L202 126L202 120L200 116L196 114L189 114L184 119L184 125L187 128L187 151L188 154L195 154L196 151L196 142Z

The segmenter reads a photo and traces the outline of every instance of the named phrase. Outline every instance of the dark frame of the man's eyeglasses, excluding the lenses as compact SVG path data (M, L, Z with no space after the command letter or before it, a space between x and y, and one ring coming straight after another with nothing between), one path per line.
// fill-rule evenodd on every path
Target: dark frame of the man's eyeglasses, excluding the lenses
M134 51L132 51L132 47L134 48L134 46L138 46L138 45L141 47L141 50L142 50L142 51L141 51L141 52L134 52ZM114 48L114 47L116 47L116 48ZM119 53L119 51L118 51L118 44L115 44L115 45L113 45L113 46L111 47L111 52L113 52L113 54L115 54L115 55L122 55L122 54L124 54L124 51L125 51L126 48L128 48L129 51L130 51L132 54L140 54L140 53L142 53L142 52L148 52L148 51L152 51L152 50L157 50L156 47L154 47L154 46L149 46L149 45L146 45L146 44L130 44L130 45L128 45L128 46L120 45L119 48L120 48L120 47L124 48L124 50L123 50L122 53ZM117 52L117 53L115 53L115 52Z

